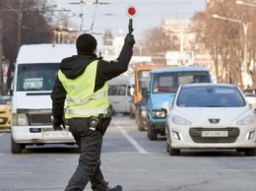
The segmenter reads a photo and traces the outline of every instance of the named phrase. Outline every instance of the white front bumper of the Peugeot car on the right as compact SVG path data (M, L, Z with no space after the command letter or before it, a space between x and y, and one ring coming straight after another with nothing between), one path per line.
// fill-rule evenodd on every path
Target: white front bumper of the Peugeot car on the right
M255 148L255 127L244 126L242 128L236 127L228 130L227 137L203 137L202 134L191 131L191 127L172 126L169 129L171 140L171 148L174 149L236 149L236 148ZM200 131L215 131L215 128L202 128ZM219 130L226 130L226 128L219 128ZM238 133L237 133L238 130ZM254 134L253 138L249 137Z

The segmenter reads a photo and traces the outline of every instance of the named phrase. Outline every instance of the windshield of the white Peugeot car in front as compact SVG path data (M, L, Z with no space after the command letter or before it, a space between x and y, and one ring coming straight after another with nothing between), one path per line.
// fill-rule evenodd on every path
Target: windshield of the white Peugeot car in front
M242 107L246 104L235 87L186 87L180 90L176 104L180 107Z

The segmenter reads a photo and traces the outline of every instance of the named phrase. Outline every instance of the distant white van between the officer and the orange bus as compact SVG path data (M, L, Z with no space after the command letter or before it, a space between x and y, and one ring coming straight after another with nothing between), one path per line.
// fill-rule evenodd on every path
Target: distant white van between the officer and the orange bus
M108 82L109 110L112 114L130 113L134 83L134 76L119 76Z

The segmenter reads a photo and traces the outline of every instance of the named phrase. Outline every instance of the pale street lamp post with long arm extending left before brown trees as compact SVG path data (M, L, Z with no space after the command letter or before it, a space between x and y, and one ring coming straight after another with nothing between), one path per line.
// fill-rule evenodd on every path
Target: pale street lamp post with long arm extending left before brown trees
M244 52L243 52L243 67L244 67L244 72L248 73L248 66L247 66L247 33L248 33L248 26L249 26L252 22L244 23L244 22L242 22L242 21L240 21L240 20L235 20L235 19L231 19L231 18L221 17L221 16L219 16L219 15L217 15L217 14L214 14L214 15L213 15L213 18L242 24L242 27L243 27L243 34L244 34L244 42L243 42L243 45L244 45L244 50L243 50L243 51L244 51Z

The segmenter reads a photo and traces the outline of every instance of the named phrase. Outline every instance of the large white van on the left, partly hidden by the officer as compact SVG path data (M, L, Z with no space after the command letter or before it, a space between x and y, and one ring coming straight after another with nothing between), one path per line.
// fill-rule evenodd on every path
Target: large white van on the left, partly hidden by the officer
M75 54L75 44L21 46L11 93L13 154L22 153L27 145L75 144L68 127L63 131L53 130L50 98L61 60Z

